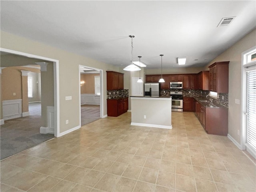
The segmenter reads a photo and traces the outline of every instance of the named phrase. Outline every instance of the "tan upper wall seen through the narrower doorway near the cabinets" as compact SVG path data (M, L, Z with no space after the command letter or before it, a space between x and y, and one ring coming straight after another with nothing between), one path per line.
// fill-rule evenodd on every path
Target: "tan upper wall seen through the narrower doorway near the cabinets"
M100 74L81 74L81 81L84 81L84 85L81 86L81 94L94 94L94 76L100 76Z

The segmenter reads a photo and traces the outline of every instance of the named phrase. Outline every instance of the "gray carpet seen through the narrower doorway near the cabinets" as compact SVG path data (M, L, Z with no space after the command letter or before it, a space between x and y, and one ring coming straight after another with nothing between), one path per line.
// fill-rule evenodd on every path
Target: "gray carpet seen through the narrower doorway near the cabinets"
M81 126L100 119L99 105L81 106Z

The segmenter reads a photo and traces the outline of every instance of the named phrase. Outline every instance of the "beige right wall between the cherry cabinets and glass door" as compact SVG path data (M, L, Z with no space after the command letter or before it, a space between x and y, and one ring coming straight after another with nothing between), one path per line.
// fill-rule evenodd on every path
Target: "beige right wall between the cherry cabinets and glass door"
M208 70L208 66L214 62L230 61L229 75L228 75L228 134L232 136L239 144L241 144L241 65L242 65L242 52L256 46L256 29L220 54L212 60L204 70ZM240 104L235 104L235 99L240 100Z

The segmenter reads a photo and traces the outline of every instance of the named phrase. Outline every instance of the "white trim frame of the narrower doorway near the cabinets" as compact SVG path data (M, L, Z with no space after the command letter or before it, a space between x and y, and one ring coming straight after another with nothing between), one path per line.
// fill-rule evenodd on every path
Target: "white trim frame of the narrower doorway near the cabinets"
M80 67L83 68L88 68L88 69L92 69L92 70L98 70L100 71L100 118L105 118L106 116L104 116L103 112L104 112L104 106L103 106L103 70L102 69L98 69L98 68L94 68L94 67L90 67L90 66L85 66L85 65L79 65L78 68L78 73L79 73L79 81L78 81L78 86L79 86L79 118L80 118L80 122L79 122L79 126L81 127L81 88L80 88L80 81L81 81L81 72L80 72Z

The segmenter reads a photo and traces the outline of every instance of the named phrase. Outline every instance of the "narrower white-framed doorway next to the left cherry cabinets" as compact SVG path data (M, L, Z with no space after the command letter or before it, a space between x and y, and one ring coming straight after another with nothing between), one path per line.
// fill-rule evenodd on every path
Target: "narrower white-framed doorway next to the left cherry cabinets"
M79 65L80 126L103 118L103 70Z

